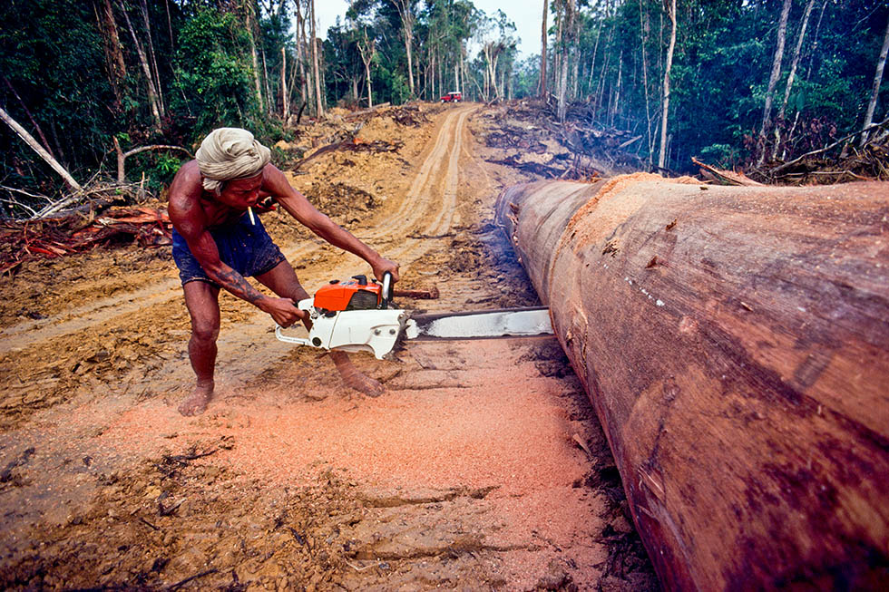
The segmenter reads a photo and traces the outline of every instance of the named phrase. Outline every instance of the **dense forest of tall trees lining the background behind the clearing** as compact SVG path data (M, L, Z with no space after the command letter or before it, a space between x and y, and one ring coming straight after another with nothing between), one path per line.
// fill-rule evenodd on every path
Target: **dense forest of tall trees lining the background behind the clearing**
M127 180L159 191L219 126L274 144L334 107L535 97L630 131L651 170L786 162L886 135L881 0L544 0L541 52L471 0L8 0L3 215ZM278 161L286 158L277 153ZM884 161L884 158L881 159Z

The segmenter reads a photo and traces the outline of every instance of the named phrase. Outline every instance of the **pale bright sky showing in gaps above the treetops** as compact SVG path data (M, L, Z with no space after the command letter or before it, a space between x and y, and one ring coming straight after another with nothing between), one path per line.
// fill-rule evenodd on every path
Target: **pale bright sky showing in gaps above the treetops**
M540 0L512 0L504 3L503 0L473 0L473 4L479 10L484 10L487 15L495 15L497 9L502 10L515 23L516 34L520 37L519 59L524 59L534 53L540 53L540 29L543 15L543 3ZM504 6L504 4L506 4ZM327 36L327 27L337 23L337 16L345 20L348 10L347 0L320 0L315 3L318 12L318 36Z

